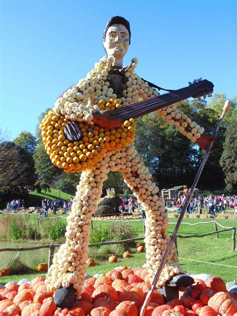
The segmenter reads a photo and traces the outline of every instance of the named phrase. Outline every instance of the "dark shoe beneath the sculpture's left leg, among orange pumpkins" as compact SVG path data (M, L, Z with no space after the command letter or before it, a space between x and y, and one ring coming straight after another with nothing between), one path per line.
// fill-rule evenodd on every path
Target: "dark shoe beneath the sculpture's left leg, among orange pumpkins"
M69 308L75 303L76 290L73 288L73 284L70 284L67 288L60 287L56 290L54 295L54 303L59 308Z

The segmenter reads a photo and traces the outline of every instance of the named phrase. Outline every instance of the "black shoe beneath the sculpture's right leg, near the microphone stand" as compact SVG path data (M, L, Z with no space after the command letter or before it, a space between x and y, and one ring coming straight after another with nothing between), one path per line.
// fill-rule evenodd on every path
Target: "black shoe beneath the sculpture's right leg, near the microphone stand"
M194 279L185 274L174 275L167 283L159 288L159 291L164 296L165 302L179 298L178 287L187 287L194 283Z

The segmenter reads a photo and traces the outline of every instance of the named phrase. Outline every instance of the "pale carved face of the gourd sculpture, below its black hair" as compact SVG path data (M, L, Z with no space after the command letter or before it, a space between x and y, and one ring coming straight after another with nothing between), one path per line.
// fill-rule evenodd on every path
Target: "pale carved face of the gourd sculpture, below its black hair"
M108 54L115 59L123 58L129 45L129 33L123 24L112 24L106 31L103 46Z

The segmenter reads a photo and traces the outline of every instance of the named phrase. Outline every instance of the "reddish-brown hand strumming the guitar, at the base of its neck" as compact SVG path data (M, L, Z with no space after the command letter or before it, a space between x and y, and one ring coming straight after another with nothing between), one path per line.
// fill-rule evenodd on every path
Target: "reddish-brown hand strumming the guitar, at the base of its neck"
M123 119L117 118L116 113L111 110L103 110L93 114L93 122L101 127L113 129L120 127Z

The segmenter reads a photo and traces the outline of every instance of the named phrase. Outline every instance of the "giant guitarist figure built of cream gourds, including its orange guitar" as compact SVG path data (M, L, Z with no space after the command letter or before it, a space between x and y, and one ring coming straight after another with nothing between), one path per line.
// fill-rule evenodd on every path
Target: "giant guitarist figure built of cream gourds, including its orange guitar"
M82 171L67 217L66 241L55 253L46 275L48 290L70 286L75 289L76 297L80 296L91 216L110 170L122 172L124 181L146 211L146 265L152 280L169 240L168 218L159 189L134 147L135 117L157 110L184 136L205 147L204 129L171 104L191 95L202 95L204 90L211 92L211 82L203 80L159 96L134 72L136 58L128 66L122 66L130 35L129 22L119 16L112 17L103 34L108 56L96 62L85 78L56 100L40 125L52 163L65 172ZM182 272L173 246L158 285Z

